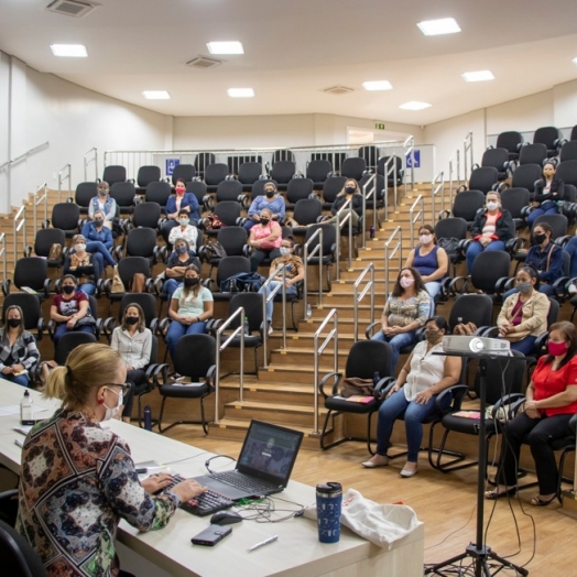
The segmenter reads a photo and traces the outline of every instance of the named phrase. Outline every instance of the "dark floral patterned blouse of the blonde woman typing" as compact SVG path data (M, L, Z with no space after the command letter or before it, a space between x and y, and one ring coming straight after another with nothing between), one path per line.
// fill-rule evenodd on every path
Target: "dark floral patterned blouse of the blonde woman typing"
M171 491L149 496L128 445L80 412L59 409L26 437L17 530L51 577L117 576L120 518L140 531L162 529L178 504Z

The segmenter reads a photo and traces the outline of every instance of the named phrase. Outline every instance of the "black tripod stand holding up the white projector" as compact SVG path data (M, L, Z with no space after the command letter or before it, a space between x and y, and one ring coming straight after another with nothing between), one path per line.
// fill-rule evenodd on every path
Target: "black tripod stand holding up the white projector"
M504 568L509 568L516 571L516 575L529 575L529 571L520 567L519 565L515 565L511 563L508 559L504 559L503 557L500 557L497 553L491 551L491 547L489 547L486 543L483 543L483 523L485 523L485 494L483 494L483 487L485 487L485 472L487 470L487 443L486 443L486 423L485 423L485 411L486 411L486 377L487 377L487 359L488 355L481 356L481 355L459 355L459 353L450 353L445 352L445 355L453 355L455 357L468 357L468 358L478 358L479 359L479 377L480 377L480 387L479 387L479 399L481 402L480 406L480 418L479 418L479 462L478 462L478 475L477 475L477 536L476 542L470 543L466 548L465 553L461 553L460 555L456 555L455 557L451 557L450 559L446 559L442 563L437 563L436 565L427 568L425 570L425 575L446 575L442 573L442 569L448 568L461 560L465 559L471 559L475 564L475 577L491 577L491 575L496 575L500 573ZM491 357L492 359L501 359L503 357ZM515 359L514 357L507 357L509 361ZM524 361L524 359L515 359ZM491 574L491 569L489 567L489 563L493 562L494 565L498 567L494 569L494 573ZM455 575L454 571L450 573L450 575Z

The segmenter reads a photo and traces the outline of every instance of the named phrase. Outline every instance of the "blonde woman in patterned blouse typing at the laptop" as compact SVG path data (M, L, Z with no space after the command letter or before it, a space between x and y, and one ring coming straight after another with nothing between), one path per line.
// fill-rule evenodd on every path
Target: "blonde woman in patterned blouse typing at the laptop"
M17 531L51 576L127 575L115 549L120 520L138 531L160 530L182 502L204 492L194 480L168 489L168 473L139 481L130 447L100 426L118 414L126 375L107 345L77 347L52 371L44 393L62 407L24 442ZM36 465L45 460L50 467Z

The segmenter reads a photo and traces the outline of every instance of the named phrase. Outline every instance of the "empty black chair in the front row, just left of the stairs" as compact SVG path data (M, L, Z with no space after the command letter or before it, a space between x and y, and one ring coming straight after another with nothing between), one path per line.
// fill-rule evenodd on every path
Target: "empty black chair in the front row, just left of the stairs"
M194 351L194 355L190 355L190 351ZM183 387L182 383L155 381L162 396L159 431L164 433L176 425L202 424L206 435L208 427L205 417L205 398L215 390L216 340L210 335L185 335L178 339L172 360L174 370L185 377L189 384ZM200 401L200 421L176 421L163 428L162 417L166 399L198 399ZM216 410L218 411L218 407Z

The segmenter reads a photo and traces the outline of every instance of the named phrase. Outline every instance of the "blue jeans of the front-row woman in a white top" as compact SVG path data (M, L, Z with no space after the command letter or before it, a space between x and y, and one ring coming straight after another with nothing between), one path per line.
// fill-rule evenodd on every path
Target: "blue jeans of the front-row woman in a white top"
M406 460L416 462L418 449L423 440L423 421L435 412L435 401L437 395L433 395L424 405L407 401L403 388L399 389L379 409L379 422L377 424L377 453L385 456L393 432L394 422L403 417L406 432ZM451 396L445 395L446 406L450 404Z

